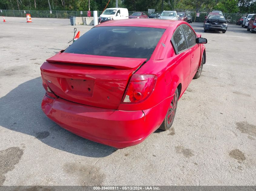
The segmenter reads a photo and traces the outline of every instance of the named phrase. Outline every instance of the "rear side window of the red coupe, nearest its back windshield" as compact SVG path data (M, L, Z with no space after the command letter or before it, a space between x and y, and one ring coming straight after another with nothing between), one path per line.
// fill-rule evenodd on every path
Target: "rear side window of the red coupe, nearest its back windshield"
M182 52L183 50L187 49L187 43L184 37L184 34L181 30L181 27L178 27L175 31L175 33L172 36L172 44L175 46L175 52L176 54Z

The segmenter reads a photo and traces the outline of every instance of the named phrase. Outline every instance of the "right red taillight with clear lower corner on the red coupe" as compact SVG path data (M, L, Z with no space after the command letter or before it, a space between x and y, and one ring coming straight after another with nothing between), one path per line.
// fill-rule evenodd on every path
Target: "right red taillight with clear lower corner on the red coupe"
M127 86L122 103L140 103L154 91L157 77L151 74L134 74Z

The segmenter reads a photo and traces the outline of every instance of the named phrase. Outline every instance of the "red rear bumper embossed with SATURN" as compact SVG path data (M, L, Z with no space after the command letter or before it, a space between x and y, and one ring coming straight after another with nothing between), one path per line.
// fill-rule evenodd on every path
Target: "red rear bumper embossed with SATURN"
M141 143L161 125L165 101L143 111L103 109L44 96L42 110L59 126L83 138L116 148ZM168 108L167 108L168 109ZM167 110L166 109L166 110Z

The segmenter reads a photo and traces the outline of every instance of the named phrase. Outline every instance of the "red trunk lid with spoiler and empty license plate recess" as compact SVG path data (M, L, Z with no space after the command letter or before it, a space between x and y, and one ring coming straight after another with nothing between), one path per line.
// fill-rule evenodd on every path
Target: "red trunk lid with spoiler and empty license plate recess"
M58 53L43 63L41 75L58 97L118 109L131 75L145 60Z

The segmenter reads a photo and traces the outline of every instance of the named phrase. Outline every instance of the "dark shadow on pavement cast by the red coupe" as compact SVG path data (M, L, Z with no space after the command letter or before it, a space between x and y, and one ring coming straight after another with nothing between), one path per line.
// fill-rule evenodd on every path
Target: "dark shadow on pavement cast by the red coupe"
M0 125L34 136L50 147L87 157L105 157L117 149L81 138L62 129L41 110L45 91L41 78L20 84L0 98Z

